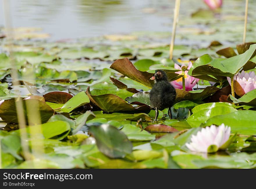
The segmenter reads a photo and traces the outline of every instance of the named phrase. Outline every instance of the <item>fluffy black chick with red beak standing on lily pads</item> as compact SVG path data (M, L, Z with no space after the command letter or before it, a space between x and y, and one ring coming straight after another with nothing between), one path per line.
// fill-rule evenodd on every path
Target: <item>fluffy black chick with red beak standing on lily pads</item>
M155 82L149 93L150 104L156 110L155 120L157 120L158 117L158 110L163 110L165 108L169 108L168 115L170 119L172 119L171 107L176 98L175 88L168 81L167 75L163 70L156 71L150 80L154 80Z

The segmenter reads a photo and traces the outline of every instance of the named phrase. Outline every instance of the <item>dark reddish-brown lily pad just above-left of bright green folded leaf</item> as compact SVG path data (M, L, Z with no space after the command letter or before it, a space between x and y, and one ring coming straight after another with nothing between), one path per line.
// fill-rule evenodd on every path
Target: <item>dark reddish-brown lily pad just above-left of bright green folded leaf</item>
M61 91L50 92L43 95L46 102L55 102L58 104L65 104L73 96L70 93L65 93Z

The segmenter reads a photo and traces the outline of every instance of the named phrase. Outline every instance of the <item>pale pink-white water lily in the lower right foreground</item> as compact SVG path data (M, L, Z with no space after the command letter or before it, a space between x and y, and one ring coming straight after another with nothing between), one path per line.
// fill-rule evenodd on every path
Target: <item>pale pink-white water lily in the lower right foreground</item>
M196 135L192 135L191 143L186 143L186 146L191 151L207 153L209 146L215 145L217 148L214 151L217 151L229 139L230 130L230 127L224 124L218 127L215 125L207 126L198 131Z

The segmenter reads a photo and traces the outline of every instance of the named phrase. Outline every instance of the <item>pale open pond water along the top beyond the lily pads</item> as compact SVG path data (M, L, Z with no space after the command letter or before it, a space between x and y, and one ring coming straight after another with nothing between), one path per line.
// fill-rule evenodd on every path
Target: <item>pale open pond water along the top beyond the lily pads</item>
M8 3L13 27L40 27L42 32L51 35L51 40L135 31L170 32L175 6L174 0L12 0ZM218 23L217 27L224 28L232 26L233 32L240 34L243 31L244 4L241 0L224 0L221 12L214 15L215 25ZM255 1L249 1L249 13L255 10L255 5ZM207 10L202 0L181 1L179 27L188 27L184 30L192 35L198 28L215 29L209 25L211 18L206 22L191 22L188 19L199 8ZM0 9L3 9L3 2L0 3ZM255 26L255 16L248 16L248 27L251 28ZM0 26L4 25L4 17L1 11ZM229 24L226 24L227 21Z

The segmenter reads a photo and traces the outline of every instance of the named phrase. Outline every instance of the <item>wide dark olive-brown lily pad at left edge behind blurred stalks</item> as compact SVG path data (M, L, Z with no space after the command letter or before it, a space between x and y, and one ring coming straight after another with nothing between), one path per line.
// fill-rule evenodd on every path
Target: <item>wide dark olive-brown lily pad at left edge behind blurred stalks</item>
M40 100L27 99L21 100L21 103L23 105L22 110L25 115L25 120L27 123L28 117L32 116L29 115L27 108L38 107L42 123L47 122L50 119L50 117L54 114L54 110ZM7 123L19 123L17 118L15 99L4 100L4 102L0 104L0 117Z

